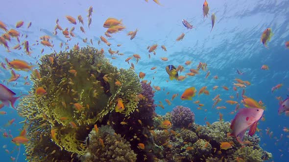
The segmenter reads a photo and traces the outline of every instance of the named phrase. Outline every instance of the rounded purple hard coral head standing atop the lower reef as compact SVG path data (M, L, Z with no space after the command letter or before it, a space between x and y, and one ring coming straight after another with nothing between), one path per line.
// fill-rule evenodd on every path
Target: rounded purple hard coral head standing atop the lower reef
M188 107L176 106L172 109L171 120L174 128L188 127L194 122L194 113Z

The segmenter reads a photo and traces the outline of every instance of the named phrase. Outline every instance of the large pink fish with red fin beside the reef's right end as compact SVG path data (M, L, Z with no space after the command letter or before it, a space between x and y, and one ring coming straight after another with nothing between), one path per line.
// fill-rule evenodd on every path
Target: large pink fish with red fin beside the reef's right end
M253 136L256 132L257 122L261 119L264 109L262 108L242 108L231 121L231 129L233 130L230 136L235 136L237 141L243 143L243 137L248 128L249 135Z

